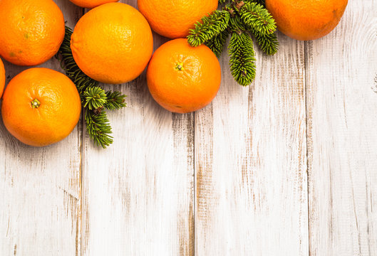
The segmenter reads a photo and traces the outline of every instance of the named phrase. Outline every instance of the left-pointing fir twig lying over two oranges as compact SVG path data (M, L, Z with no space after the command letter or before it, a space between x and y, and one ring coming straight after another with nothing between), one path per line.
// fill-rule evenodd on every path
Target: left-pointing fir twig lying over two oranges
M229 18L228 11L214 11L210 16L204 16L195 24L195 28L190 30L188 43L191 46L200 46L209 41L227 28Z

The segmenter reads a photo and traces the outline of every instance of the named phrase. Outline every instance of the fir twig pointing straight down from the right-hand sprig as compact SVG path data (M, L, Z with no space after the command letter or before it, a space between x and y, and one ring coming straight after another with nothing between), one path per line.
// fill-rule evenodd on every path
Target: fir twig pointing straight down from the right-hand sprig
M252 38L247 33L233 33L229 43L230 71L234 80L247 86L255 78L256 65Z

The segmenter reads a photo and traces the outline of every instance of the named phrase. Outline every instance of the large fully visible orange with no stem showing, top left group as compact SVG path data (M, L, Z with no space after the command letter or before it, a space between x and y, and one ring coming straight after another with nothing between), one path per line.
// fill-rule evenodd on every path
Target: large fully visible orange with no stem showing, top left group
M148 21L132 6L103 4L76 24L71 50L78 67L99 82L120 84L137 78L153 53Z

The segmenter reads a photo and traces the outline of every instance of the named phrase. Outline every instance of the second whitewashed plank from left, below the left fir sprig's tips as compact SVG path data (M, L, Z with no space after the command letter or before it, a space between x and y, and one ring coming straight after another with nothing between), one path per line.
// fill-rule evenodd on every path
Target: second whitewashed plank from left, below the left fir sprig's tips
M154 36L155 48L166 41ZM145 74L105 88L128 95L128 107L109 112L108 149L85 139L83 255L192 255L193 114L159 107Z

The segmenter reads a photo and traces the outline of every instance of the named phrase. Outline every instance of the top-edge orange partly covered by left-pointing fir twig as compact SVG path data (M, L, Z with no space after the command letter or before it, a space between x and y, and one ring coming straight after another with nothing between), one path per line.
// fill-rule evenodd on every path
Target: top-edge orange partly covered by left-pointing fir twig
M167 38L185 38L203 16L217 9L218 0L138 0L152 29Z

